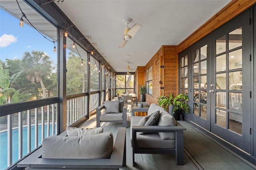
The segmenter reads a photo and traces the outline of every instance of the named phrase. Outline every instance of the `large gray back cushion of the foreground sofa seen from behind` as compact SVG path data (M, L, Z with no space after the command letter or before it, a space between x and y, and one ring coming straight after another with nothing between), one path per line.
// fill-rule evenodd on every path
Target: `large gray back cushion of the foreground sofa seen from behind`
M107 159L110 158L112 149L111 132L87 136L52 135L42 142L42 158Z

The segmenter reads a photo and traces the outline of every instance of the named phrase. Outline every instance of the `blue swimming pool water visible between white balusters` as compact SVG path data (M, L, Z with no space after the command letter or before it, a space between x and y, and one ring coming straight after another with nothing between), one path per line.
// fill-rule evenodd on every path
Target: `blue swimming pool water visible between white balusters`
M55 125L56 127L56 125ZM56 128L54 128L56 134ZM27 127L22 129L22 156L27 152ZM47 125L44 125L44 137L47 135ZM50 134L52 133L52 125L50 125ZM42 144L42 125L38 125L38 146ZM31 150L35 149L35 126L31 126ZM18 160L18 128L12 129L12 163ZM0 133L0 170L7 168L7 131Z

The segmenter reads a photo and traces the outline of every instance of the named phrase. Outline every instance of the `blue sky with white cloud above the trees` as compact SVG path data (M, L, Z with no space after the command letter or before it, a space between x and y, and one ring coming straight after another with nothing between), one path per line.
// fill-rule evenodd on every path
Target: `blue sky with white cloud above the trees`
M29 17L27 17L29 20ZM24 19L26 20L26 19ZM20 27L20 20L0 9L0 59L21 59L25 51L44 51L56 63L57 53L53 52L54 44L46 40L34 28L24 22ZM50 39L51 40L51 39ZM57 43L55 43L57 46Z

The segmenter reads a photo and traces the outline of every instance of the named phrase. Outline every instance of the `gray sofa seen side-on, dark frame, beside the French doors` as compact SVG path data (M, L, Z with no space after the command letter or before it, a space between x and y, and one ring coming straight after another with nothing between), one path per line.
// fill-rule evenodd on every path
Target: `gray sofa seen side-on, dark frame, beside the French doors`
M135 154L176 154L177 165L184 165L184 136L186 130L162 107L152 103L148 115L159 111L159 118L155 126L138 126L145 117L131 118L131 146L132 161L135 166ZM149 116L148 116L149 117ZM152 116L151 116L152 117ZM150 118L148 119L150 120ZM144 120L145 121L145 120ZM146 134L141 134L145 132Z

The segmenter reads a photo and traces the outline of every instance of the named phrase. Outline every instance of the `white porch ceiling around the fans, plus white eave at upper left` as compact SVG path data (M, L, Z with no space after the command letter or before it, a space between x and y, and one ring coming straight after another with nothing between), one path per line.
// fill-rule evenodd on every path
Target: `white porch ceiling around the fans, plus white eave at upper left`
M135 71L145 66L162 45L178 45L197 28L209 20L231 0L64 0L54 2L76 25L84 36L91 36L90 43L117 72L126 72L126 66ZM0 0L1 8L20 18L16 0ZM19 1L27 14L28 6ZM27 9L25 9L27 8ZM16 14L17 12L17 14ZM31 13L36 27L38 16ZM123 48L124 18L132 18L142 25L138 33ZM49 27L49 24L48 26ZM39 28L44 32L44 28ZM54 29L52 29L54 30ZM48 35L46 33L46 35ZM50 35L50 37L52 37ZM125 57L130 55L131 57ZM133 72L130 71L130 72Z

